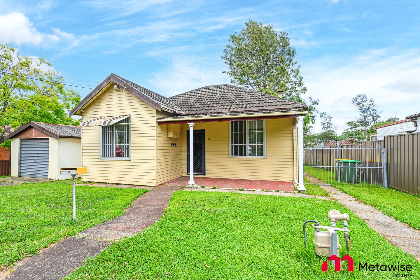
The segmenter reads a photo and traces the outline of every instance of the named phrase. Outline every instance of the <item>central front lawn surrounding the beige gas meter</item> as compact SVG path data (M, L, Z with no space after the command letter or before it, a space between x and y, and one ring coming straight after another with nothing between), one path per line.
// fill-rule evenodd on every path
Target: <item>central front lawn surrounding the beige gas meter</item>
M321 272L326 258L313 253L310 225L310 246L304 249L303 222L316 219L329 225L330 209L351 216L350 255L355 272ZM359 261L412 264L411 279L419 277L420 263L414 257L388 243L336 201L177 191L158 222L113 243L65 279L396 279L389 272L359 272Z

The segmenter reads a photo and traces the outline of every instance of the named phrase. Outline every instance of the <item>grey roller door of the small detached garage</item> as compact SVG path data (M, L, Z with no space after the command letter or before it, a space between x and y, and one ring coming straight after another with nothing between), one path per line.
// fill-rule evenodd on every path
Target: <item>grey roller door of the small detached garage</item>
M48 138L21 139L19 176L48 178Z

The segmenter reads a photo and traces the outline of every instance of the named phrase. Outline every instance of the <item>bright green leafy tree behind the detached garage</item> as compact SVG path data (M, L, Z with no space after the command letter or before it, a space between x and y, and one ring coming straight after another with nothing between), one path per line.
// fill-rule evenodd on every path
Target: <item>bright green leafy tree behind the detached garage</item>
M64 78L57 71L43 70L45 67L50 68L51 63L20 55L13 47L0 43L2 125L18 127L29 121L79 124L68 117L68 111L80 102L79 93L65 88Z

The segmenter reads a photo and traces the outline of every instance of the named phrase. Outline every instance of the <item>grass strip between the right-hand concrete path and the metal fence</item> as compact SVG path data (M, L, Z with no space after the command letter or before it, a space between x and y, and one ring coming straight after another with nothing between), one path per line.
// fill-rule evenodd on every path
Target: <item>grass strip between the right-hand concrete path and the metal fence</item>
M323 180L327 176L331 184L341 191L360 199L365 204L372 205L386 215L404 222L413 228L420 229L420 196L407 194L394 188L383 188L373 184L355 185L338 183L333 172L307 168L305 171Z

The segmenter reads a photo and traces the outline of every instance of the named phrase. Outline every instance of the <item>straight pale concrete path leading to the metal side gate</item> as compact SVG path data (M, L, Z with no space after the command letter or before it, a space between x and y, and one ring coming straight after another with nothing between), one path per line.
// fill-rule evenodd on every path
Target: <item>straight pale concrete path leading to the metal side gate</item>
M385 237L391 244L420 260L420 230L398 222L394 218L379 212L376 208L363 204L362 201L339 191L333 186L321 187L340 204L349 208L354 215L363 219L370 228Z

